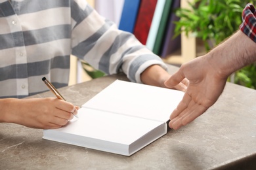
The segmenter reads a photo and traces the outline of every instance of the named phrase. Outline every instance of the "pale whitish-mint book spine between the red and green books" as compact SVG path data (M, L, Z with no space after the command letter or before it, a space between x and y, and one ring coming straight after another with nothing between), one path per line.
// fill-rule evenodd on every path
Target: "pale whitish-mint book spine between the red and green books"
M165 1L167 0L158 0L156 4L156 9L150 26L150 31L148 33L148 39L146 40L146 47L150 50L153 50L154 43L156 41L156 35L158 33L158 27L160 25L161 15L163 8L165 6Z

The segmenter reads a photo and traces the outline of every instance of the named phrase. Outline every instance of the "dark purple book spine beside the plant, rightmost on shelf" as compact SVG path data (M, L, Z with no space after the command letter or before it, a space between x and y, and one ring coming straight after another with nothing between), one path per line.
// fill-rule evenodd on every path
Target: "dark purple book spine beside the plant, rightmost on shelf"
M169 15L169 22L167 25L167 30L165 31L165 39L163 40L161 50L161 58L166 58L169 56L172 52L175 52L175 50L181 48L181 36L176 37L173 39L173 35L175 34L175 23L176 21L179 21L179 17L176 16L174 10L181 7L181 0L175 0L173 1L173 5L171 7L171 12Z

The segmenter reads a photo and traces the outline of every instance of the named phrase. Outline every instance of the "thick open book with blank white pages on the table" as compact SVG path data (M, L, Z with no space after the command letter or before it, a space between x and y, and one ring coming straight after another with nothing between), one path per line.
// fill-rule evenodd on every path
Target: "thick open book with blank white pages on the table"
M167 122L184 93L116 80L43 139L131 156L167 133Z

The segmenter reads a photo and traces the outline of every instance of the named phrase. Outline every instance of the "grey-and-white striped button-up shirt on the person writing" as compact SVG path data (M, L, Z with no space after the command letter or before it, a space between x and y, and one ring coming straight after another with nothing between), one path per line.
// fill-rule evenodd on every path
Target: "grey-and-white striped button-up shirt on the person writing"
M68 85L70 54L132 82L163 61L134 35L91 8L85 0L0 0L0 98L22 98Z

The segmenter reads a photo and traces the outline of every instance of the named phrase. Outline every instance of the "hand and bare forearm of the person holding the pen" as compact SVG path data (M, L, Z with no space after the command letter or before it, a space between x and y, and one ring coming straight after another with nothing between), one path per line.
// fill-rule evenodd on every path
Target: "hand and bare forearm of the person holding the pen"
M0 99L0 122L55 129L67 124L78 107L57 98Z

